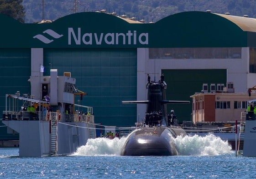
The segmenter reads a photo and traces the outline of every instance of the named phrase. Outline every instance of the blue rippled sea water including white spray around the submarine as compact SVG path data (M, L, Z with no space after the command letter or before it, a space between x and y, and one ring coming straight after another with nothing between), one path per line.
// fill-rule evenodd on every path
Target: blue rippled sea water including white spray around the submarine
M0 148L0 178L6 179L255 179L256 158L237 156L226 141L178 137L178 156L120 156L125 138L89 139L76 153L18 157L18 148Z

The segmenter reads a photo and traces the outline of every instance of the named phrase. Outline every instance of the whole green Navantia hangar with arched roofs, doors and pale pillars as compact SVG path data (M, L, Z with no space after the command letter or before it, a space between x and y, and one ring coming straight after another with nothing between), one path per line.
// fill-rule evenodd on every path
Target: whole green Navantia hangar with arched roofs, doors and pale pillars
M143 121L146 105L122 101L146 100L147 74L158 81L164 73L168 100L191 100L203 84L223 90L228 83L235 92L256 85L256 19L247 16L192 11L141 23L84 12L52 23L0 21L1 111L5 94L34 93L29 79L40 66L44 76L71 72L88 93L80 104L94 107L95 123L117 127ZM192 103L172 108L180 123L191 120Z

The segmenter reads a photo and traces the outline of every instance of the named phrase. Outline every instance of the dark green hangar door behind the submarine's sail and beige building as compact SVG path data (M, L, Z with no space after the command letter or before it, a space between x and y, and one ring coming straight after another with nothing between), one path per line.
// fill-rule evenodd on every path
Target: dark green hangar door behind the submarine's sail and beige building
M164 80L167 83L167 100L184 100L191 101L195 92L201 92L203 84L226 84L227 71L226 69L196 69L196 70L162 70ZM191 120L192 102L190 104L167 104L168 112L171 109L179 120Z

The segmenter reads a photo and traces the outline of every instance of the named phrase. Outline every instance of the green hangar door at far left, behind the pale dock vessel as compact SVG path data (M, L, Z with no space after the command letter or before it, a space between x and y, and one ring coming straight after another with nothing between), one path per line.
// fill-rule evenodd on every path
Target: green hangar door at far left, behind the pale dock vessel
M30 49L0 49L0 112L5 110L5 94L20 91L30 94L31 73ZM21 107L22 101L19 101ZM2 114L1 114L2 115ZM4 125L0 123L0 125ZM19 135L7 134L6 127L0 128L0 139L19 139Z

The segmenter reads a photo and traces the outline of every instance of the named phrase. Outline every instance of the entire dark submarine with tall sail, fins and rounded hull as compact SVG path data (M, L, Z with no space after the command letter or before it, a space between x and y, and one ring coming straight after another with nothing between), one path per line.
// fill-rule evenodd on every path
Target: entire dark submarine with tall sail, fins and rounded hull
M148 76L146 101L123 101L123 103L146 104L144 125L131 132L120 155L124 156L168 156L178 155L173 138L186 135L183 128L175 126L175 115L167 116L168 103L190 103L189 101L167 101L164 76L158 82Z

